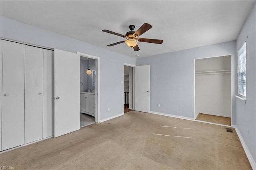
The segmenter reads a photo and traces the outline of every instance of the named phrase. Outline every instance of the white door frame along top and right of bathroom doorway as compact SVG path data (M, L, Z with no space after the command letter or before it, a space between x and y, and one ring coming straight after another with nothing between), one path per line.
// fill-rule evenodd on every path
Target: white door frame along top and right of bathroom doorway
M95 85L95 102L96 102L96 107L95 107L95 122L100 123L100 57L86 54L86 53L81 53L81 52L76 52L77 54L80 55L80 57L86 57L90 59L95 59L96 64L95 64L95 69L96 69L96 85Z

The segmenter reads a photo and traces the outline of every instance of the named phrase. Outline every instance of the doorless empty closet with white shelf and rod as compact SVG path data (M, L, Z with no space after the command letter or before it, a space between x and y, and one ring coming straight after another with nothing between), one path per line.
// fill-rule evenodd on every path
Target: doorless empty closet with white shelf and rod
M195 59L195 119L231 125L231 55Z

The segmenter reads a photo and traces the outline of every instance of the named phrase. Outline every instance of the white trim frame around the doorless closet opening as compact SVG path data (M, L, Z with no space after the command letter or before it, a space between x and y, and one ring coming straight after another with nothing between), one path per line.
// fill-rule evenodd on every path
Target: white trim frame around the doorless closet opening
M233 78L233 74L234 74L234 59L233 59L233 55L232 54L229 54L231 56L231 109L230 109L230 125L232 127L232 116L233 116L233 111L232 111L232 108L233 108L233 101L234 101L234 78ZM198 121L196 120L196 74L195 74L195 71L196 71L196 59L206 59L206 58L214 58L214 57L225 57L225 56L229 56L229 55L218 55L218 56L211 56L211 57L202 57L202 58L195 58L194 59L194 120L195 121ZM211 123L211 122L205 122L205 123L209 123L209 124L213 124L213 125L220 125L218 123ZM228 125L222 125L222 126L227 126L227 127L230 127Z

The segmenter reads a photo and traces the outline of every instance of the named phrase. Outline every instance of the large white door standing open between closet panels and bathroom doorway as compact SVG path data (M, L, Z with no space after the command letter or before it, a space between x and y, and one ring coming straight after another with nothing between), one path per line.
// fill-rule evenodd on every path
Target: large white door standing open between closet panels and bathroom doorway
M54 137L80 129L80 55L54 49Z

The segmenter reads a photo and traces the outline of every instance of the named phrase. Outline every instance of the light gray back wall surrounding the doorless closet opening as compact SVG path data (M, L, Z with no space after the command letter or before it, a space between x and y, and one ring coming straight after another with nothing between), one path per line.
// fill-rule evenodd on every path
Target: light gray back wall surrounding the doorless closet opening
M232 55L235 70L235 41L137 59L137 65L150 64L150 111L194 118L194 59L224 55ZM232 79L232 96L235 86ZM232 118L235 124L234 114Z

